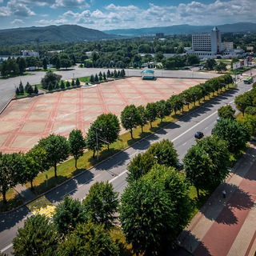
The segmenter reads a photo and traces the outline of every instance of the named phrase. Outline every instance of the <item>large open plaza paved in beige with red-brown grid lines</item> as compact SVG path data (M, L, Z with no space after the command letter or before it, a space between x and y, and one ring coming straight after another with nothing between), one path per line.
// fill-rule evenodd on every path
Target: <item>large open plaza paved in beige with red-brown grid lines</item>
M205 80L138 77L114 80L91 88L78 88L22 98L10 102L0 115L0 151L30 150L49 134L68 136L71 130L86 135L90 122L102 113L120 116L127 105L146 105L179 94Z

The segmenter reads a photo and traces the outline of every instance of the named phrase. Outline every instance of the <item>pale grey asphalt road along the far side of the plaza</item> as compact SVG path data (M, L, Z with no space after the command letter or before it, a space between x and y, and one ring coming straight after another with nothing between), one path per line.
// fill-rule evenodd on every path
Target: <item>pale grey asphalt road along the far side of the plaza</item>
M112 71L114 69L110 69ZM118 70L118 69L117 69ZM61 74L63 80L72 78L82 78L90 76L91 74L98 74L100 71L106 72L107 69L96 69L96 68L79 68L75 66L74 69L61 70L54 73ZM126 70L127 76L141 76L142 70ZM45 76L46 72L32 71L30 75L20 76L16 78L0 79L0 114L1 110L8 104L11 98L15 94L16 88L22 81L23 86L26 86L26 82L30 82L31 85L41 83L41 79ZM155 70L155 77L166 77L166 78L202 78L209 79L218 76L219 74L210 74L186 70Z

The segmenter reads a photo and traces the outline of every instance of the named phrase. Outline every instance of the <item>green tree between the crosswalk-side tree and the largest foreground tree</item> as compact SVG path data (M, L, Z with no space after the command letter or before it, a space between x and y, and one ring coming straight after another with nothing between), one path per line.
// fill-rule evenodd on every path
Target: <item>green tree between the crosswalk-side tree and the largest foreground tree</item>
M104 224L106 228L114 225L114 214L118 210L118 192L109 182L96 182L82 202L92 222Z

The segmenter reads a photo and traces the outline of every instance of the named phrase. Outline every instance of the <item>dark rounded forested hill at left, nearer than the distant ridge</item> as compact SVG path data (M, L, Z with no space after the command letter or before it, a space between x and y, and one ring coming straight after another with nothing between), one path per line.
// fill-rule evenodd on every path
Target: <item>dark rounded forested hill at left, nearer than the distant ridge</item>
M113 38L99 30L77 25L31 26L26 28L0 30L0 46L35 42L76 42Z

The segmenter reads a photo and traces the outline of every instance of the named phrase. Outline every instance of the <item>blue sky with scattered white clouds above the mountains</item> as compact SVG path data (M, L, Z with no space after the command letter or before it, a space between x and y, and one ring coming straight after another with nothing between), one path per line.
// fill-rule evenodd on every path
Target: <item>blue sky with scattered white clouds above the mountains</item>
M256 0L0 0L0 30L72 24L94 30L255 22Z

